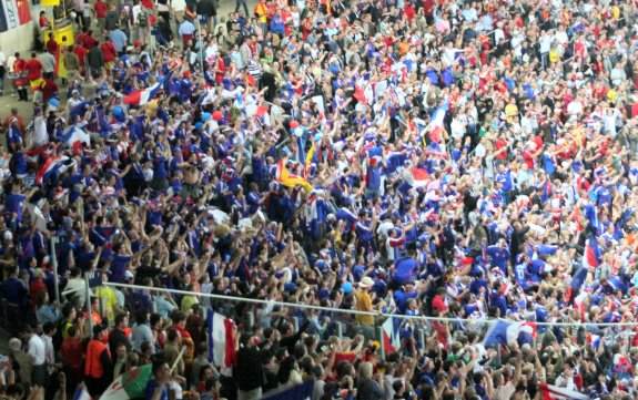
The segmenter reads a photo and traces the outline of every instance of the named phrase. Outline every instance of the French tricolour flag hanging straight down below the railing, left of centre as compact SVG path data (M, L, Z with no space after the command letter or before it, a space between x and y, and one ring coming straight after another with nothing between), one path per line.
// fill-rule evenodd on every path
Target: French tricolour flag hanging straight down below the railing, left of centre
M236 357L235 322L211 308L207 310L207 322L209 360L220 368L232 368Z

